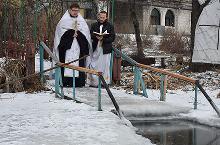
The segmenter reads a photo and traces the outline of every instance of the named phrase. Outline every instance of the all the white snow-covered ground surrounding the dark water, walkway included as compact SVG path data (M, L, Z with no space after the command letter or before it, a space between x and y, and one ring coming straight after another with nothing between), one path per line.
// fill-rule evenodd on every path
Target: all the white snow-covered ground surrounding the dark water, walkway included
M38 62L39 57L36 58L37 71L39 71ZM49 67L50 62L46 62L45 69ZM127 94L124 90L111 89L111 91L129 119L179 118L220 127L220 118L201 92L198 92L198 109L193 109L195 92L192 87L187 88L189 89L185 91L168 90L166 102L158 101L159 90L147 89L149 98ZM211 86L206 88L207 93L220 108L220 99L217 99L220 89L211 88ZM71 90L65 89L65 93L71 96ZM113 108L111 102L105 104L102 98L103 111L97 111L96 88L80 88L76 93L77 99L86 104L55 98L51 92L0 94L0 144L151 144L148 139L137 135L135 128L127 126L123 120L109 111ZM105 90L102 90L102 96L108 97ZM147 106L143 108L140 102L146 103ZM148 112L147 116L146 114L141 118L137 116L143 112Z

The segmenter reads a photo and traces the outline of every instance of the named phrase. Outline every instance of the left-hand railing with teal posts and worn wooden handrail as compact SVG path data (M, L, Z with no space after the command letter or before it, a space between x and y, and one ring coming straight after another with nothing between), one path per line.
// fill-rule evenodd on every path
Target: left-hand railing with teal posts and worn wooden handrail
M46 44L44 42L40 42L40 72L44 72L44 63L43 63L43 53L44 50L46 50L46 52L50 55L50 57L56 62L56 66L53 67L52 69L55 69L55 95L57 97L61 97L64 98L64 91L63 91L63 83L62 83L62 76L61 76L61 67L64 68L68 68L68 69L72 69L73 70L73 100L76 101L76 94L75 94L75 71L80 71L80 72L85 72L88 74L93 74L98 76L99 78L99 83L98 83L98 111L101 111L101 84L104 86L104 88L106 89L116 111L117 111L117 115L122 118L122 113L120 111L119 105L116 102L111 90L109 89L109 86L107 85L103 75L101 72L98 72L96 70L91 70L88 68L84 68L84 67L78 67L78 66L74 66L74 65L70 65L71 62L69 63L61 63L59 62L59 60L57 59L57 57L51 52L51 50L46 46ZM77 61L77 60L75 60ZM41 75L41 80L44 80L44 76L43 73L40 73Z

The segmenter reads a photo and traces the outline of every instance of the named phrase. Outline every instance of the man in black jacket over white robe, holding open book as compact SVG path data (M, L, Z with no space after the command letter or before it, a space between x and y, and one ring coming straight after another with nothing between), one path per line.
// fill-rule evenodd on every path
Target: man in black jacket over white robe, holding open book
M107 21L107 12L99 13L98 22L93 23L90 29L93 52L90 54L90 69L102 72L107 84L110 84L110 61L112 52L112 42L115 40L113 25ZM88 75L87 83L90 86L98 86L98 77Z

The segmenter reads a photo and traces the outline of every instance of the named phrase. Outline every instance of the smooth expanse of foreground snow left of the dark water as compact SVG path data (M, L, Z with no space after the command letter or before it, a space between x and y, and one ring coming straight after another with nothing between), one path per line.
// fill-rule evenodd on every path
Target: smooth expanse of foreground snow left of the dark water
M151 145L108 111L49 92L1 94L0 144Z

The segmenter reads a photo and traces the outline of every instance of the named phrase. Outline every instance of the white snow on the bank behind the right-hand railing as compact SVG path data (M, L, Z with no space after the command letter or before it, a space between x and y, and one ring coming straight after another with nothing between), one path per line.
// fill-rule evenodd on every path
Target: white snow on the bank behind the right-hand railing
M212 90L206 88L205 90L207 91L208 95L212 98L216 106L220 108L220 98L217 98L217 94L220 92L220 89ZM158 99L156 97L159 95L159 92L157 90L149 90L148 93L150 96L150 100ZM181 119L187 119L209 126L220 127L220 117L211 107L205 96L200 91L198 91L198 106L196 110L193 109L194 97L195 92L193 90L168 91L166 96L166 102L177 106L191 108L191 110L188 113L179 114L178 117Z

